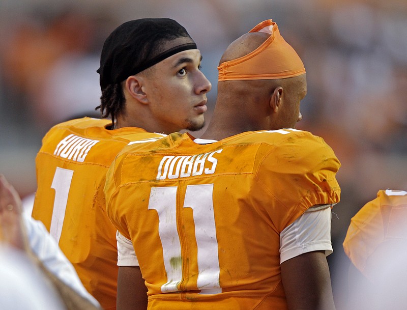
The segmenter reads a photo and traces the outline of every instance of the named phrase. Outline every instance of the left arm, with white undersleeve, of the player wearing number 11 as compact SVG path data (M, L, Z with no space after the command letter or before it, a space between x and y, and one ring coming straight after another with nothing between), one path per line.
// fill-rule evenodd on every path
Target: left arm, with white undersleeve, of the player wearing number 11
M144 285L133 244L119 232L116 237L119 265L117 310L146 310L147 287Z

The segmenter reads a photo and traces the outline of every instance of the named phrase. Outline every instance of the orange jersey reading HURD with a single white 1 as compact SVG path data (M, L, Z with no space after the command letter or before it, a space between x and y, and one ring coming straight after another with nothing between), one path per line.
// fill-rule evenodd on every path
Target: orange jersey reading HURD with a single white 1
M107 130L111 122L83 118L54 126L36 158L33 217L41 220L104 309L116 308L116 229L105 210L107 169L129 141L163 135L140 128Z

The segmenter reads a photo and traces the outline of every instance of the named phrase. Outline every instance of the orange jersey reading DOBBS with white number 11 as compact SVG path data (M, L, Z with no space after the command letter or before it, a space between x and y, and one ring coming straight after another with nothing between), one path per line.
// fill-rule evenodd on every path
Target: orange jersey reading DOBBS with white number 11
M124 148L106 177L107 213L133 242L149 309L287 309L280 232L339 202L339 166L322 138L295 129Z

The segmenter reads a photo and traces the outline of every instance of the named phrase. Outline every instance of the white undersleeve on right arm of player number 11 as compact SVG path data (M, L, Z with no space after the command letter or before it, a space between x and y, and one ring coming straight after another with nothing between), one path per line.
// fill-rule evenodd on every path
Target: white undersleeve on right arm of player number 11
M306 252L333 252L331 243L331 206L309 208L280 234L280 264Z

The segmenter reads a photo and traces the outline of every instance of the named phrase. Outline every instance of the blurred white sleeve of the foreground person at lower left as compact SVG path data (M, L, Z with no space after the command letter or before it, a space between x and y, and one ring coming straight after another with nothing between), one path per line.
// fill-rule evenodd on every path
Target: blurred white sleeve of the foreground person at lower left
M27 230L28 243L42 264L80 296L100 307L99 302L86 291L75 268L64 255L55 239L48 233L44 224L26 213L23 213L23 219Z

